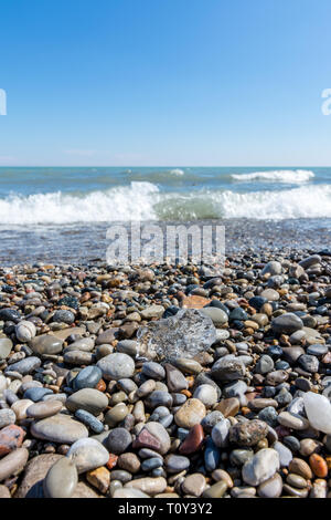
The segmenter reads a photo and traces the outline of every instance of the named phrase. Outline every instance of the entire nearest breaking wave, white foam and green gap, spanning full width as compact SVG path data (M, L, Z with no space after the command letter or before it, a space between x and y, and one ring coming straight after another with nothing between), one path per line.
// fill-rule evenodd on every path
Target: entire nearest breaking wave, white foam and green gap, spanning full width
M0 225L66 225L130 220L210 218L331 218L331 185L237 193L161 193L152 183L134 181L85 196L61 191L0 199Z

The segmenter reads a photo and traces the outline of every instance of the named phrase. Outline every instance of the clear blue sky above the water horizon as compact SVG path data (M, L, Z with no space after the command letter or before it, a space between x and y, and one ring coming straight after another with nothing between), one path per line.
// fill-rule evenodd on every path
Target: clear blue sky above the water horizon
M330 166L330 0L0 3L0 165Z

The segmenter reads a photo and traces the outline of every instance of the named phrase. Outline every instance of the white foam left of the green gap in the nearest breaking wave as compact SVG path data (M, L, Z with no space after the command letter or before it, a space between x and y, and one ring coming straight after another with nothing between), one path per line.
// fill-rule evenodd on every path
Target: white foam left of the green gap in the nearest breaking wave
M61 191L11 195L0 199L0 223L73 223L157 218L153 201L159 189L151 183L131 183L107 191L93 191L83 197Z

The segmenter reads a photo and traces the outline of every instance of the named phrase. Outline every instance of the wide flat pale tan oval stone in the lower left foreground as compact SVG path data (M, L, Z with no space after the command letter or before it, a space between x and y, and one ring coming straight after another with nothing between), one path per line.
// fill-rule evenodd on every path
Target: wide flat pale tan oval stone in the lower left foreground
M38 439L57 444L73 444L78 439L88 437L86 426L64 414L53 415L32 423L31 434Z

